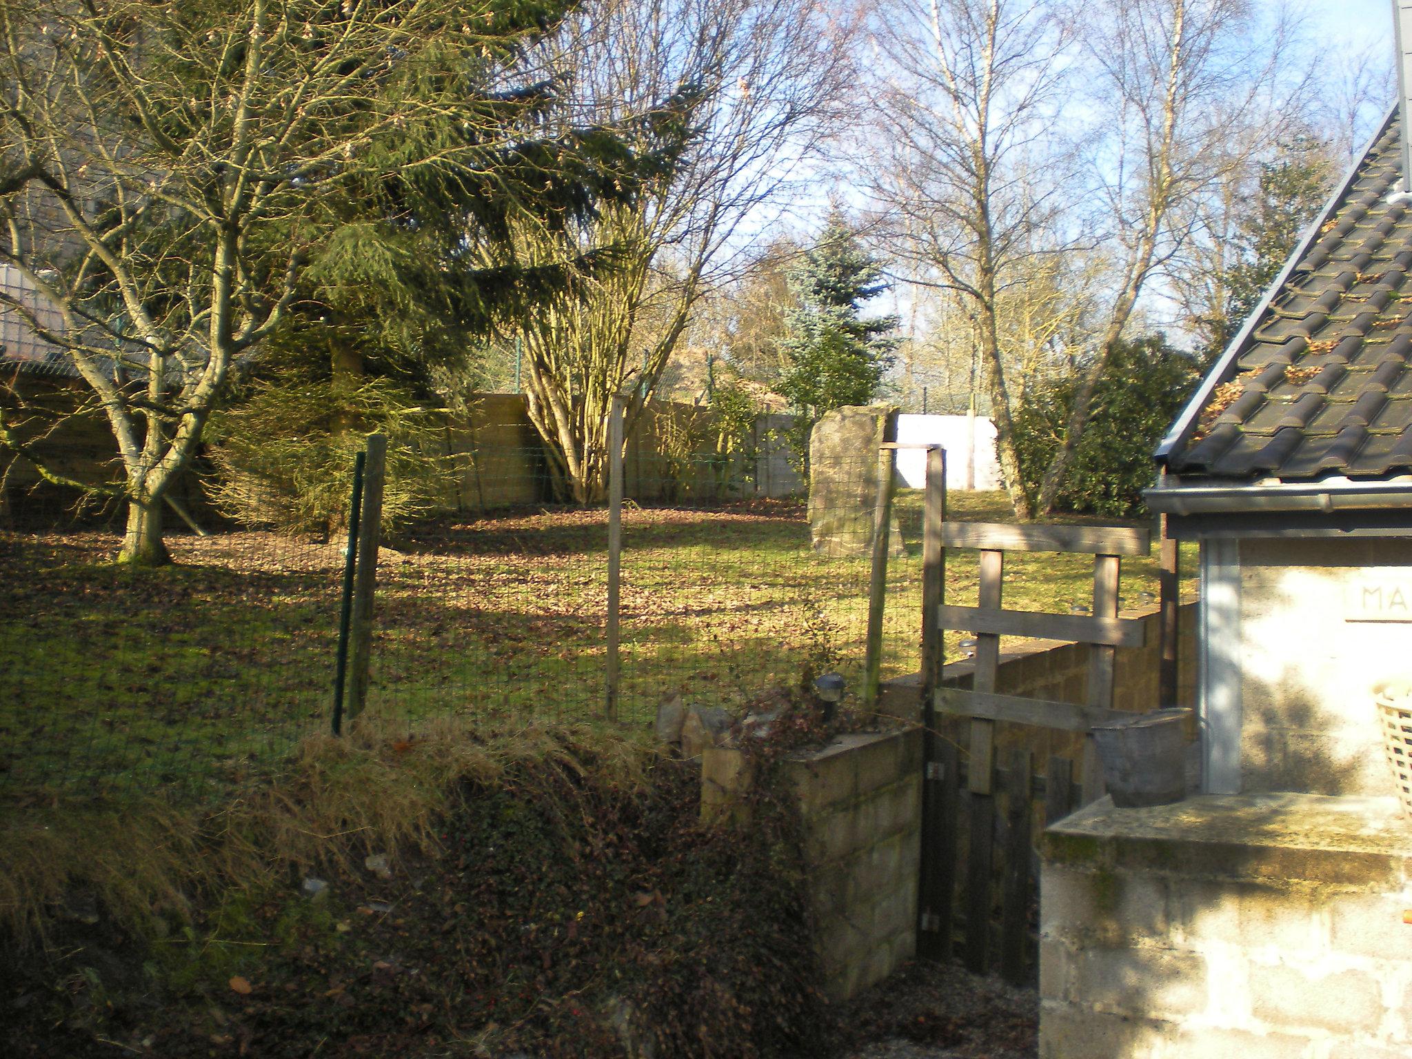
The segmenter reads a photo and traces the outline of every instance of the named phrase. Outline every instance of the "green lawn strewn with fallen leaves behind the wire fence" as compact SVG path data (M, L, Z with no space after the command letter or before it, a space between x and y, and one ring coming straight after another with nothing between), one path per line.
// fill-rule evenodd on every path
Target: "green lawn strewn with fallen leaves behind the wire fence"
M888 572L884 675L914 672L921 645L921 496L902 493L897 510L907 555ZM1003 494L956 493L949 515L1010 510ZM623 521L623 720L645 722L675 692L738 705L806 664L857 679L868 562L815 555L802 505L631 508ZM602 713L604 513L448 518L390 544L370 712L409 730L457 713ZM0 534L0 791L202 796L328 726L336 546L178 537L175 566L134 573L110 565L116 545ZM949 555L946 575L950 602L976 602L973 552ZM1087 556L1008 555L1005 604L1067 613L1090 600L1090 576ZM1155 561L1125 561L1124 606L1144 592L1156 592Z

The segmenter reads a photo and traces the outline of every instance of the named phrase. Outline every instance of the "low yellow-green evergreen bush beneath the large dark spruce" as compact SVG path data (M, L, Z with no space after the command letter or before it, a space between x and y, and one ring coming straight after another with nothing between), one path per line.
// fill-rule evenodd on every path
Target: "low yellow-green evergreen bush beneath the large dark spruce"
M212 418L212 500L243 525L328 534L346 524L354 455L387 436L383 527L425 514L455 467L442 424L415 395L380 377L267 378Z

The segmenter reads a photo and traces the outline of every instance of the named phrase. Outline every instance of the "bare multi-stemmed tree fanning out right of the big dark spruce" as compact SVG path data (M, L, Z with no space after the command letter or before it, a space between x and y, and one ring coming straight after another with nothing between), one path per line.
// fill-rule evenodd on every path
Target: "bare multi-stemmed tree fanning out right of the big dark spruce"
M746 263L743 223L768 219L827 137L847 66L846 28L812 0L599 0L580 25L582 113L613 121L676 96L695 137L651 193L551 240L616 264L521 325L530 418L587 503L604 490L613 395L631 425L692 308Z

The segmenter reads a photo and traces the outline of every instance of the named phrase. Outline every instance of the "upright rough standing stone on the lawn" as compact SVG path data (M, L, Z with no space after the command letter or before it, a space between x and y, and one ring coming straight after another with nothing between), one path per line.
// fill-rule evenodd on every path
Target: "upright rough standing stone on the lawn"
M890 405L834 408L809 433L809 534L813 549L836 558L873 554L873 508L878 494L878 446ZM904 555L894 517L892 555Z

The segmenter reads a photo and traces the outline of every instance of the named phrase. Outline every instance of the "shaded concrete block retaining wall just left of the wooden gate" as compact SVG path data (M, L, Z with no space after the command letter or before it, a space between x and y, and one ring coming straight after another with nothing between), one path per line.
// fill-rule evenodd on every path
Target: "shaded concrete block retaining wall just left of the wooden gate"
M751 782L746 762L738 750L705 751L705 816L730 810ZM916 953L922 733L842 736L786 760L784 781L803 820L823 988L847 1000Z

